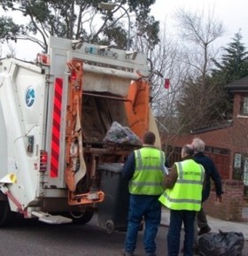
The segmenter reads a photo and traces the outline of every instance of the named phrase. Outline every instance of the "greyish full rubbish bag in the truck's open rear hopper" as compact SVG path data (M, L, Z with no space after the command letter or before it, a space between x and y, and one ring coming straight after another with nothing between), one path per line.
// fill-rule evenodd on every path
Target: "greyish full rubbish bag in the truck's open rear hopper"
M112 122L111 128L105 134L104 142L142 145L141 139L130 128L122 127L117 121Z

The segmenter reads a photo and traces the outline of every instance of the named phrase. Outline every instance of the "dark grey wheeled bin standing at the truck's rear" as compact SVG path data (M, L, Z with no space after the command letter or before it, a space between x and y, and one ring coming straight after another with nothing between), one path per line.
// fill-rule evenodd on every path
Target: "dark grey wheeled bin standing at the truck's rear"
M125 231L128 227L128 181L122 179L122 167L119 163L97 167L101 173L100 188L105 192L105 200L98 205L98 222L108 233Z

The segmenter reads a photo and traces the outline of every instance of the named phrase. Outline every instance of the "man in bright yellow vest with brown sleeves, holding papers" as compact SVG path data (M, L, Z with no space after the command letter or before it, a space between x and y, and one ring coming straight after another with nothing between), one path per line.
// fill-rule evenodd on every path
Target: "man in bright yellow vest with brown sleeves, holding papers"
M183 255L193 256L194 221L201 208L205 169L193 157L190 144L182 147L182 161L175 162L165 177L166 190L159 201L170 209L167 234L167 256L177 256L180 248L182 223L184 226Z

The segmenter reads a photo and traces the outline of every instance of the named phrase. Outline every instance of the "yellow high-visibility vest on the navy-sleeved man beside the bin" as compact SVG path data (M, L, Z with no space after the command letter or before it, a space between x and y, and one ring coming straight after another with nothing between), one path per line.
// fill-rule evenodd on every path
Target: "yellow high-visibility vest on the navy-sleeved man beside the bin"
M152 147L135 151L136 170L129 182L129 192L135 195L161 195L164 191L165 153Z

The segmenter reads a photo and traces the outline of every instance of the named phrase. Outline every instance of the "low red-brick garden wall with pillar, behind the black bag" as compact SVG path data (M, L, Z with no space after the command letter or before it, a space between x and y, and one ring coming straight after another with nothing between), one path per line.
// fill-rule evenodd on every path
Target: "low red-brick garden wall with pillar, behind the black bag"
M216 202L215 190L204 203L205 213L213 218L225 221L247 221L242 217L244 206L244 184L240 181L227 180L222 184L223 202Z

